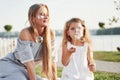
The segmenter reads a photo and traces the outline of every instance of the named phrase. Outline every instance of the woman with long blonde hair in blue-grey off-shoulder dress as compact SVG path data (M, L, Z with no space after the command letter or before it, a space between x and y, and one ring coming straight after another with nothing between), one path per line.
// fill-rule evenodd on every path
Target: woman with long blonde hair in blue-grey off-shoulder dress
M28 19L30 26L21 31L14 52L0 60L0 80L42 80L35 73L40 61L48 80L57 78L55 35L49 27L47 5L32 5Z

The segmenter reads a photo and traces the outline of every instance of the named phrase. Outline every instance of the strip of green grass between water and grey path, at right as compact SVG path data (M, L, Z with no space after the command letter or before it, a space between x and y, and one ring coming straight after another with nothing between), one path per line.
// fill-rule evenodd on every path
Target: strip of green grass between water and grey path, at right
M95 60L120 62L120 52L95 51L93 55Z

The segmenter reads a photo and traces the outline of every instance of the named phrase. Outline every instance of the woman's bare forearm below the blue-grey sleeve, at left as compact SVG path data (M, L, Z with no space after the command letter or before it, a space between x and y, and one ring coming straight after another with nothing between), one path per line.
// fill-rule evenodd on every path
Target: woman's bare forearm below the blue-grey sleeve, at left
M35 63L34 63L34 61L26 62L25 66L27 68L27 73L28 73L29 80L36 80Z

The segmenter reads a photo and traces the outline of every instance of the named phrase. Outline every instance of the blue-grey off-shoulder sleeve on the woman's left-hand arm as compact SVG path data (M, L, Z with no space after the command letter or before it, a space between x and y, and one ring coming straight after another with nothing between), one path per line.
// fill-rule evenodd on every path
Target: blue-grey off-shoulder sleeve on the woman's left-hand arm
M34 60L31 44L28 41L18 40L14 54L21 63Z

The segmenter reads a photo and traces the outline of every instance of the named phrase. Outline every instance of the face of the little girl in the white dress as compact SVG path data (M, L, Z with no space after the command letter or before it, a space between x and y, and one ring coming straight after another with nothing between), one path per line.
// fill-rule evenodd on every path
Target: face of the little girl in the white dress
M67 34L74 40L83 37L84 27L81 23L73 22L70 24Z

